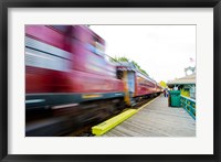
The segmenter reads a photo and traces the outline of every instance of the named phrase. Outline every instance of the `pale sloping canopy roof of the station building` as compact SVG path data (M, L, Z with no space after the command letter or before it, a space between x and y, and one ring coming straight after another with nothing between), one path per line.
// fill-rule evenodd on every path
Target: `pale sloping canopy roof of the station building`
M181 77L181 78L176 78L173 80L169 80L167 83L168 86L173 86L173 85L196 85L196 73Z

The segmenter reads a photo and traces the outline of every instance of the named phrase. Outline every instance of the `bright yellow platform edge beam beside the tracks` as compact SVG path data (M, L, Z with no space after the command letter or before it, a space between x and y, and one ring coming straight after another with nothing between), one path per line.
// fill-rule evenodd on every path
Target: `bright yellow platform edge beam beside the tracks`
M108 130L110 130L112 128L116 127L117 125L119 125L120 122L123 122L124 120L128 119L129 117L131 117L133 115L135 115L138 110L137 109L128 109L97 126L92 127L92 133L95 136L102 136L105 132L107 132Z

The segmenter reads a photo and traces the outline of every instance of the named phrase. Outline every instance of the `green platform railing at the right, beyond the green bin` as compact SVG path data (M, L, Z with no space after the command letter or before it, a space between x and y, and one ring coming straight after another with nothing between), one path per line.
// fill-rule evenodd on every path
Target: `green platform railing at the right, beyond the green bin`
M196 100L180 95L180 105L196 119Z

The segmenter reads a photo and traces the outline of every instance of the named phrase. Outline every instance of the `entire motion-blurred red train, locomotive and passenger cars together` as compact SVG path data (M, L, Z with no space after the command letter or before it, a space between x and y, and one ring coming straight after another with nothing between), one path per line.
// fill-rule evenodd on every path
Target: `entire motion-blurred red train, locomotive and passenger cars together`
M110 63L86 25L25 25L25 136L62 136L159 95L131 63Z

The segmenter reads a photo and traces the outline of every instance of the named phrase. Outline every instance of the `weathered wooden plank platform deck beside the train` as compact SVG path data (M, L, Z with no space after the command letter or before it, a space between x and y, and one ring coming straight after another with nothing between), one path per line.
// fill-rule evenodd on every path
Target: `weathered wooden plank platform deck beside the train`
M103 137L196 137L196 120L161 95Z

